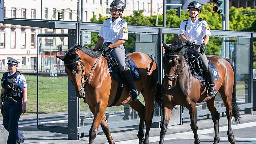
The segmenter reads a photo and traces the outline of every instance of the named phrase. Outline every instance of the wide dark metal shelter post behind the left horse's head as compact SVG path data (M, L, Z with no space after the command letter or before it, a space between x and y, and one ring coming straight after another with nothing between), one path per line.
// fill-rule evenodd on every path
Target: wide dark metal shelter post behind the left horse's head
M68 31L68 46L69 48L74 44L80 42L80 23L76 23L76 29L69 29ZM79 140L79 99L76 96L74 86L68 78L68 139Z

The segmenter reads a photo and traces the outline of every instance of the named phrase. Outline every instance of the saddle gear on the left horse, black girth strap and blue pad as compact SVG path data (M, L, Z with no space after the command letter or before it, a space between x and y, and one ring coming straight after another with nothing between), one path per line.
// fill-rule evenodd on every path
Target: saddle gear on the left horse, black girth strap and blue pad
M117 88L117 93L116 93L116 96L115 96L115 100L109 106L109 107L111 107L111 106L114 106L118 102L118 100L120 99L121 94L123 92L123 86L124 86L125 80L122 76L122 73L119 69L119 66L118 66L118 63L117 63L116 59L112 55L110 55L108 52L105 52L103 54L103 57L106 58L106 60L107 60L110 74L118 81L118 88ZM130 68L133 81L140 80L141 75L140 75L139 68L136 65L136 63L131 59L130 56L125 55L125 63L126 63L126 66L128 66Z

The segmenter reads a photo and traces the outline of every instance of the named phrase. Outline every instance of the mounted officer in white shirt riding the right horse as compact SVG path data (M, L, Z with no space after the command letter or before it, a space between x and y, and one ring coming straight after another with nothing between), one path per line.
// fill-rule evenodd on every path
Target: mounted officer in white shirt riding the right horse
M208 97L215 96L215 84L213 79L213 74L210 70L210 66L208 65L208 61L205 51L205 45L207 45L209 41L209 36L211 35L209 25L202 18L198 18L198 15L202 11L202 6L200 3L193 1L188 5L189 11L189 20L184 20L180 25L180 31L178 36L184 43L184 45L188 46L186 52L195 54L196 57L200 56L203 64L203 71L207 77L207 81L209 82L210 88L207 91ZM195 48L193 47L193 43Z

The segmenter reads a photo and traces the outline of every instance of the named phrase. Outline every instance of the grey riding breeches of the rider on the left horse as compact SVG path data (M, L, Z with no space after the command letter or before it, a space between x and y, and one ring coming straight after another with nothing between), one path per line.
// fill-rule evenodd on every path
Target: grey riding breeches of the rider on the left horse
M123 45L113 48L110 53L117 61L119 69L121 72L125 70L125 49Z

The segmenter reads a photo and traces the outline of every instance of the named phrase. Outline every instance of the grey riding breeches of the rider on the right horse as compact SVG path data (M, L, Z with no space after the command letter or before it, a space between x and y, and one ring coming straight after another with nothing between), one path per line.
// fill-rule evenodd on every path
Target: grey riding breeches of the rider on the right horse
M191 53L191 54L195 55L196 58L198 58L201 55L200 59L202 61L202 65L203 65L203 71L207 71L208 70L208 60L206 58L206 55L205 55L205 53L203 53L203 54L199 53L200 45L195 45L195 47L196 47L196 55L195 55L195 52L194 52L194 47L188 48L185 51L187 53Z

